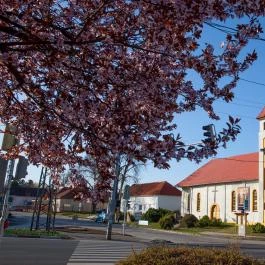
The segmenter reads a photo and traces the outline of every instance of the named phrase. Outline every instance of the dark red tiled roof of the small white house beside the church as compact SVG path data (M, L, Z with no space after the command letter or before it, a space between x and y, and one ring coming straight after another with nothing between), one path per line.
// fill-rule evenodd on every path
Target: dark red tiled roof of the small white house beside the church
M134 184L130 188L130 196L181 196L181 191L166 181Z

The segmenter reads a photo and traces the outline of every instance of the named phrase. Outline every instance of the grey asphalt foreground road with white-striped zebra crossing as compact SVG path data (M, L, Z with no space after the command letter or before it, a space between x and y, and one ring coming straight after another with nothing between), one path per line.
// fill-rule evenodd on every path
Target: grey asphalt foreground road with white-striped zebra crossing
M114 265L145 247L142 243L106 240L1 238L1 265Z

